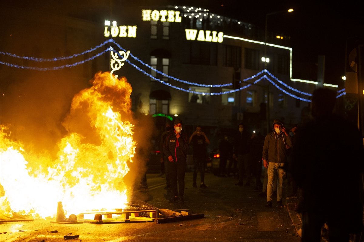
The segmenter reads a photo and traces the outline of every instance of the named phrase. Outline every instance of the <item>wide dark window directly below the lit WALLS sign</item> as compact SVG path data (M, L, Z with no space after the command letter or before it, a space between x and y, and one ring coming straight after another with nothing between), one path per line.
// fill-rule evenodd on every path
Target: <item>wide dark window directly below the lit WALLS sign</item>
M186 41L183 63L217 65L217 44L200 41Z

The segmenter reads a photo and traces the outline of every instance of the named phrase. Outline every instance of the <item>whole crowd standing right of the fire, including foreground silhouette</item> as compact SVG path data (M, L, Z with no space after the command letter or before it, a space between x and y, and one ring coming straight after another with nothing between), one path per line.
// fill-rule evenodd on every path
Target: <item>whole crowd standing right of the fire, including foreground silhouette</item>
M235 135L222 134L218 144L220 163L215 175L233 175L236 186L255 183L254 190L266 197L266 208L273 204L285 207L284 181L292 185L292 194L286 199L299 199L297 212L302 214L304 242L320 242L324 223L331 242L349 241L349 234L363 231L363 138L355 124L334 114L335 102L335 92L316 89L310 122L286 128L282 120L275 119L265 137L259 130L251 134L240 123ZM189 145L193 148L193 187L197 187L199 172L199 187L207 189L208 144L201 126L188 137L182 132L181 120L174 121L174 129L166 124L161 146L166 189L173 193L170 202L184 202Z

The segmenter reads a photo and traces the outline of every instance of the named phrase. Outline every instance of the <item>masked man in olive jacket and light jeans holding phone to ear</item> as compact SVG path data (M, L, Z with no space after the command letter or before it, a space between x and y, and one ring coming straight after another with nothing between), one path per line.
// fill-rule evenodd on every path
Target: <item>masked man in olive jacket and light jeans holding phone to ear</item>
M287 159L287 146L292 147L292 138L279 119L273 121L273 131L265 136L263 145L263 163L268 169L267 203L272 207L273 181L277 181L277 207L283 207L282 192L285 177L284 164Z

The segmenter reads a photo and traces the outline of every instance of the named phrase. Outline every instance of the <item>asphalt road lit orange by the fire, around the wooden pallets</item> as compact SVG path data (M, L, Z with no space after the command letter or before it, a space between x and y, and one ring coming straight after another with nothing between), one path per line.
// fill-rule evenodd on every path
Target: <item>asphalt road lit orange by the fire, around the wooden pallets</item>
M199 183L199 174L197 183ZM55 220L3 222L0 241L65 241L64 235L79 235L67 241L279 241L299 242L297 215L288 208L265 208L266 199L258 197L254 184L235 186L232 177L205 176L207 189L193 188L192 172L186 173L185 203L169 203L171 192L163 189L165 178L147 174L149 189L136 190L134 201L143 201L158 209L170 209L201 218L166 223L149 221L130 223L59 224ZM291 204L292 205L292 204ZM81 220L79 220L80 222ZM51 233L52 231L56 233Z

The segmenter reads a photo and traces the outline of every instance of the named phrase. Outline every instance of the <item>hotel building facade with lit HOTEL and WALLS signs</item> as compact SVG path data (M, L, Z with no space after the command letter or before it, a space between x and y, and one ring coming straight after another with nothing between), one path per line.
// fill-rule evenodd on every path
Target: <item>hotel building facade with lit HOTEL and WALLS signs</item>
M64 60L70 66L60 70L85 86L97 71L112 71L108 48L130 51L113 74L131 84L132 111L154 116L158 128L178 116L189 131L201 125L214 134L244 122L250 130L266 133L275 118L290 127L307 114L309 94L317 83L292 78L292 49L286 36L278 39L268 32L265 44L262 28L198 6L123 3L91 1L86 12L82 5L57 13L44 6L4 9L8 24L0 30L2 49L39 58L89 50ZM15 26L21 35L12 35ZM2 69L7 73L3 79L24 74Z

